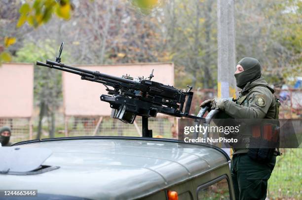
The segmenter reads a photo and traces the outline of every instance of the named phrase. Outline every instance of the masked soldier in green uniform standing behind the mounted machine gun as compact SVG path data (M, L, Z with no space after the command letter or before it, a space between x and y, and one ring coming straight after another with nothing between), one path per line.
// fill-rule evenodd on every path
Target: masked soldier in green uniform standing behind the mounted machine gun
M201 103L212 109L219 108L235 119L277 119L278 105L274 90L261 78L261 66L255 58L243 58L234 74L236 85L241 89L237 100L215 98ZM244 134L241 135L244 137ZM249 140L247 140L249 141ZM264 200L267 180L276 163L278 152L273 152L266 161L260 162L250 156L249 150L234 149L231 160L231 176L236 200ZM272 149L274 151L274 149Z

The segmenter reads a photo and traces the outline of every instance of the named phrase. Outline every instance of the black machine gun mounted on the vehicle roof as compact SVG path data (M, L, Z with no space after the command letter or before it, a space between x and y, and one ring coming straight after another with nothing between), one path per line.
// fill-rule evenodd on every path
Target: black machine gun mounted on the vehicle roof
M128 75L116 77L99 71L65 65L61 63L60 58L63 44L62 42L56 61L46 60L46 63L37 61L37 65L74 73L80 75L82 80L103 84L108 95L102 94L100 99L110 103L111 117L132 124L137 115L142 116L143 136L152 137L152 131L148 129L148 118L156 117L157 113L201 119L201 117L189 115L193 98L193 92L190 91L192 87L187 86L189 89L183 91L151 81L153 70L148 78L133 78Z

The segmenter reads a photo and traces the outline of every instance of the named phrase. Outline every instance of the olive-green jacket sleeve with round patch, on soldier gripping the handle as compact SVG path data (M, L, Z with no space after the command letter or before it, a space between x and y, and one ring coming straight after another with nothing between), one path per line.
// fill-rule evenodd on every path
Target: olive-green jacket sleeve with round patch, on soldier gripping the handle
M247 98L248 107L226 100L224 102L225 112L235 119L263 119L273 100L271 92L267 88L256 87Z

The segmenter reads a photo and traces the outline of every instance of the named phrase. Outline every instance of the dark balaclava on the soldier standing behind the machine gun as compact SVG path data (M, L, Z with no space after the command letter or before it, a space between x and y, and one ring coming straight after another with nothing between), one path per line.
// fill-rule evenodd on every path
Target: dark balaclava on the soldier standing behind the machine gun
M234 74L238 88L243 89L247 83L261 77L261 66L257 59L250 57L243 58L238 62L238 65L241 65L244 69L244 71Z

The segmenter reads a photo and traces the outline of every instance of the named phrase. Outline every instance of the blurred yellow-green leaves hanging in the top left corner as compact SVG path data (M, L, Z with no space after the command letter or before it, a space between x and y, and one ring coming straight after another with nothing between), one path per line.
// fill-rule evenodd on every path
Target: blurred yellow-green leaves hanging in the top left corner
M32 31L31 27L38 28L42 24L47 23L53 13L59 18L68 20L71 16L73 4L70 0L34 0L33 3L21 3L19 0L4 0L0 2L0 28L3 32L0 40L4 40L4 45L0 44L0 65L2 62L11 61L11 53L15 55L16 47L8 49L8 47L22 40L23 35L28 31ZM24 28L24 24L28 23L30 27ZM17 28L21 28L17 30ZM20 44L20 43L18 43Z

